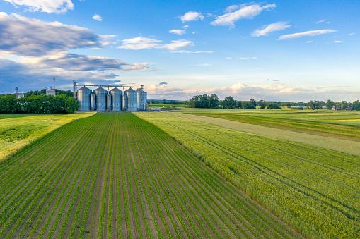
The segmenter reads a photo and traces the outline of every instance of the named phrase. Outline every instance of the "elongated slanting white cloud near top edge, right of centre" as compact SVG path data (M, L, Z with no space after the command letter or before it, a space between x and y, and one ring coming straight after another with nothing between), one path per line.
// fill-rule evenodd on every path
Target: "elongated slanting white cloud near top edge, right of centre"
M211 25L230 25L234 26L234 23L240 19L247 18L252 19L255 16L259 15L265 9L271 9L276 7L275 4L268 4L265 6L260 6L259 4L240 4L238 8L230 6L226 8L227 13L222 16L216 16L216 20L212 21ZM238 10L237 10L238 9Z

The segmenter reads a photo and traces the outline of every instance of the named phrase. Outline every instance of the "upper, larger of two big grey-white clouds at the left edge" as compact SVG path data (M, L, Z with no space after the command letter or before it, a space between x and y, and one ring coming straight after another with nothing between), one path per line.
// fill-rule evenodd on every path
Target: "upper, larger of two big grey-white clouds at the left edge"
M44 56L76 48L99 48L92 30L0 13L0 54Z

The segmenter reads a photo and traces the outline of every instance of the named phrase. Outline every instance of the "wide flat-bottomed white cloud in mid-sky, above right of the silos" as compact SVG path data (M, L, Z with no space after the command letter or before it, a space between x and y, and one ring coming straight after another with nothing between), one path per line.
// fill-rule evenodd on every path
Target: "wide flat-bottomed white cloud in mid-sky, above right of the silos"
M168 44L160 44L161 40L147 38L147 37L134 37L132 39L124 39L122 45L117 47L119 49L132 49L132 50L139 50L139 49L168 49L168 50L176 50L180 48L186 47L193 47L194 42L185 40L185 39L178 39L171 41Z

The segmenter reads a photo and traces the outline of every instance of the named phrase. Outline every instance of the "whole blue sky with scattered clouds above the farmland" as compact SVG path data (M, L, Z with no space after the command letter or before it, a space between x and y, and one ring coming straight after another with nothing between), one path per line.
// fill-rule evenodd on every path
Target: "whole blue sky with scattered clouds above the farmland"
M0 93L360 99L360 1L0 0Z

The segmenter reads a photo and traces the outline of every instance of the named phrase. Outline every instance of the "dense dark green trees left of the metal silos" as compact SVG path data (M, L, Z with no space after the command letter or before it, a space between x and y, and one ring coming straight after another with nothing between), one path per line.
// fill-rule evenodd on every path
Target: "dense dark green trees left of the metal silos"
M0 114L71 114L78 109L76 99L67 94L59 94L56 97L31 94L19 99L16 99L14 94L0 97Z

